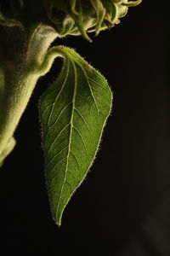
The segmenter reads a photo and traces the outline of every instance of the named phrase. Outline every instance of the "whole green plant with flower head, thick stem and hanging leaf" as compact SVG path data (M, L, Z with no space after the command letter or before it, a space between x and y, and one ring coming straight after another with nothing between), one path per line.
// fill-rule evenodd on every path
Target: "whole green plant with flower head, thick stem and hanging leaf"
M14 131L37 79L54 59L65 59L59 77L40 99L42 148L56 224L82 183L99 148L112 93L105 78L73 49L50 48L55 38L96 35L120 22L127 0L0 1L0 165L13 150ZM10 40L9 40L10 39Z

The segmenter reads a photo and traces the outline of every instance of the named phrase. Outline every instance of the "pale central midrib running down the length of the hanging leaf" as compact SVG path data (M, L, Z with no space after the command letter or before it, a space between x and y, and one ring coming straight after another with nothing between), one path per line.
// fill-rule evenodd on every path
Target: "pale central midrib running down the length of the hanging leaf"
M71 61L71 64L73 66L74 73L75 73L75 84L74 84L74 93L73 93L73 97L72 97L72 110L71 110L71 132L70 132L70 136L69 136L68 153L67 153L67 156L66 156L65 177L64 177L64 181L63 181L63 184L62 184L62 187L61 187L61 190L60 190L60 194L59 194L59 203L58 203L58 206L57 206L57 209L56 209L56 218L57 218L57 214L58 214L58 211L59 211L59 204L60 204L61 195L62 195L62 192L63 192L65 180L66 180L66 174L68 172L68 162L69 162L69 156L70 156L70 153L71 153L71 137L72 137L72 129L73 129L73 117L74 117L74 110L75 110L75 101L76 101L76 96L77 96L77 68L75 66L74 61ZM63 211L64 211L64 209L62 210L62 212ZM60 216L61 216L61 214L60 214Z

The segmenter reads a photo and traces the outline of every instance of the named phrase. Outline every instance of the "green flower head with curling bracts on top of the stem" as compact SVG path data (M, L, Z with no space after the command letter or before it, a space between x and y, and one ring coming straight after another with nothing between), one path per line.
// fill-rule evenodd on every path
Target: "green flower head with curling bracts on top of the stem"
M0 24L21 24L29 27L42 23L52 26L59 37L82 34L88 41L88 32L111 28L127 14L128 7L141 2L128 0L0 0Z

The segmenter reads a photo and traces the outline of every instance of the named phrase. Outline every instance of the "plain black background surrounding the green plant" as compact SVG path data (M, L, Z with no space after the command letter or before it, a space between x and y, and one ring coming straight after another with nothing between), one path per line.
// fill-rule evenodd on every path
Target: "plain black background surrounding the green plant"
M2 255L170 255L168 20L165 1L158 2L129 9L93 44L56 40L105 75L113 111L94 166L58 228L48 206L37 104L61 62L38 81L1 169Z

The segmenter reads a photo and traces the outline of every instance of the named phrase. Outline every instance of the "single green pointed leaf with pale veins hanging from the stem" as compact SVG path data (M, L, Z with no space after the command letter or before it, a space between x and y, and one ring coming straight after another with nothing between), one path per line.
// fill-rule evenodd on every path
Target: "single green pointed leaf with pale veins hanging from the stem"
M64 208L86 177L99 148L112 93L105 78L72 49L59 46L65 64L40 100L42 146L52 214Z

